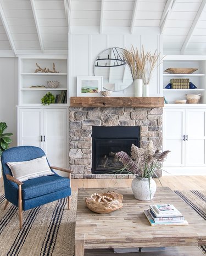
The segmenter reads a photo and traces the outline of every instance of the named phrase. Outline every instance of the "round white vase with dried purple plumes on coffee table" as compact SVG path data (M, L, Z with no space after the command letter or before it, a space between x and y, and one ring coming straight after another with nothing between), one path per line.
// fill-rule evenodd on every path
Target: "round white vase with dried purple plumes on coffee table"
M162 162L166 159L170 151L162 153L154 150L153 142L149 141L147 147L131 146L131 157L124 151L115 154L120 162L124 164L121 171L134 174L136 177L132 180L132 192L136 199L149 201L156 192L157 185L152 177L157 177L155 170L162 167Z

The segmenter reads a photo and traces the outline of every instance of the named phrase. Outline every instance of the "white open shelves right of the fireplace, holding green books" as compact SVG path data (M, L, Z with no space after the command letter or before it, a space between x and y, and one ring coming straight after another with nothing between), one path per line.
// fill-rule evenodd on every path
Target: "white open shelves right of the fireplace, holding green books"
M201 93L199 103L205 102L205 63L201 55L166 55L163 59L163 95L169 103L174 103L176 99L186 99L186 94ZM164 70L168 68L197 68L192 74L169 74ZM166 89L170 79L190 79L197 89Z

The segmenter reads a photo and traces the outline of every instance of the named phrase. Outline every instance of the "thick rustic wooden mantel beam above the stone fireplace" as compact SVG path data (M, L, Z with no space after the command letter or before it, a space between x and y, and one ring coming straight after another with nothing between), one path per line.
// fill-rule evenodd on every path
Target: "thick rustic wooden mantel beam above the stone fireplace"
M71 97L71 107L164 107L163 97Z

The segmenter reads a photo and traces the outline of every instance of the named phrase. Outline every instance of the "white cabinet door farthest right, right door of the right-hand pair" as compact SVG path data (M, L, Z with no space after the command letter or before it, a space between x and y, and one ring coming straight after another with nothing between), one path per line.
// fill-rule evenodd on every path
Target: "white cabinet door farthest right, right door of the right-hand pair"
M186 110L185 165L205 166L205 110Z

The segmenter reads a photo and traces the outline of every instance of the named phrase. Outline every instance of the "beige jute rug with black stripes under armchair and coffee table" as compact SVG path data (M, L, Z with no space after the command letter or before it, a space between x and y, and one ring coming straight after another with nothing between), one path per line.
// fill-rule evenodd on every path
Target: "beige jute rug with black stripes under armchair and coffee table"
M206 191L175 191L206 220ZM18 209L5 204L0 197L0 255L73 256L77 192L71 197L71 209L66 199L42 205L24 212L23 229L19 230ZM206 255L206 246L201 246Z

